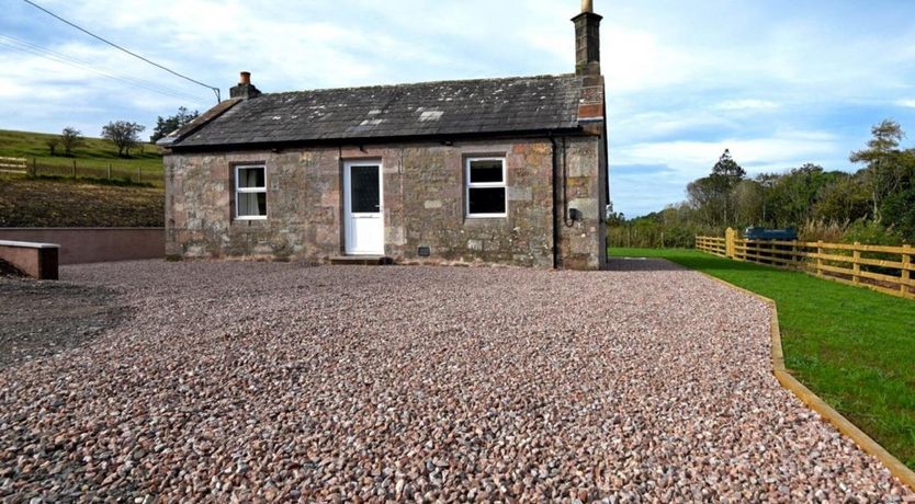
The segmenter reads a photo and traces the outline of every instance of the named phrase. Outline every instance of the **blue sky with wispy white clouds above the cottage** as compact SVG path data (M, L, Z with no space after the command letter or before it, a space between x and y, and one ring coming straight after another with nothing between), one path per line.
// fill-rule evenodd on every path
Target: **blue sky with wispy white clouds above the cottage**
M264 92L574 71L578 0L35 0L154 61ZM22 0L0 0L0 129L100 136L206 88ZM595 0L610 192L629 217L686 198L725 148L750 175L854 171L884 118L915 135L915 1ZM906 140L905 145L912 145Z

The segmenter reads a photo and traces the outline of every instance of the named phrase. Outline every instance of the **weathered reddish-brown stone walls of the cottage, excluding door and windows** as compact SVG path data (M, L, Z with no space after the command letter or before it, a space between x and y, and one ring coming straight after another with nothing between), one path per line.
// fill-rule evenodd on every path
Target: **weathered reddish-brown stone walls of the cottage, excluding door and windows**
M562 266L602 264L598 137L567 140L567 197L584 219L562 226ZM467 218L467 157L504 156L508 216ZM343 253L342 162L380 160L385 253L398 263L553 266L549 139L303 148L166 156L166 252L172 256L325 262ZM233 219L233 167L267 168L267 220ZM562 213L562 210L560 211ZM420 247L430 255L420 257Z

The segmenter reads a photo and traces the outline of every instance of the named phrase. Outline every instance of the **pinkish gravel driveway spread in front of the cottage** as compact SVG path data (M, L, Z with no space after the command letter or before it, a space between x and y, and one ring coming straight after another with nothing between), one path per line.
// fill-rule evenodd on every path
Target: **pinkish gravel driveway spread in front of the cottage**
M129 317L0 368L0 499L912 497L779 387L764 303L621 264L64 267Z

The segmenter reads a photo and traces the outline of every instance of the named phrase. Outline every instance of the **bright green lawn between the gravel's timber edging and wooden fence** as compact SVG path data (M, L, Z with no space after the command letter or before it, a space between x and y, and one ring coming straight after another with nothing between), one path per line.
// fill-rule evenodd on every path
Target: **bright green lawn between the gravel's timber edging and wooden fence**
M915 469L915 301L694 250L610 255L667 259L773 299L786 367Z

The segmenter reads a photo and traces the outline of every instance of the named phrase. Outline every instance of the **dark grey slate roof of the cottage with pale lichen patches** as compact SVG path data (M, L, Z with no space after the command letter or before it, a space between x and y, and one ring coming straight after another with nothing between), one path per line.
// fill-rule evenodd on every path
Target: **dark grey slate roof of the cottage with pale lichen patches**
M575 75L344 88L226 103L167 137L171 147L216 147L432 135L573 129Z

